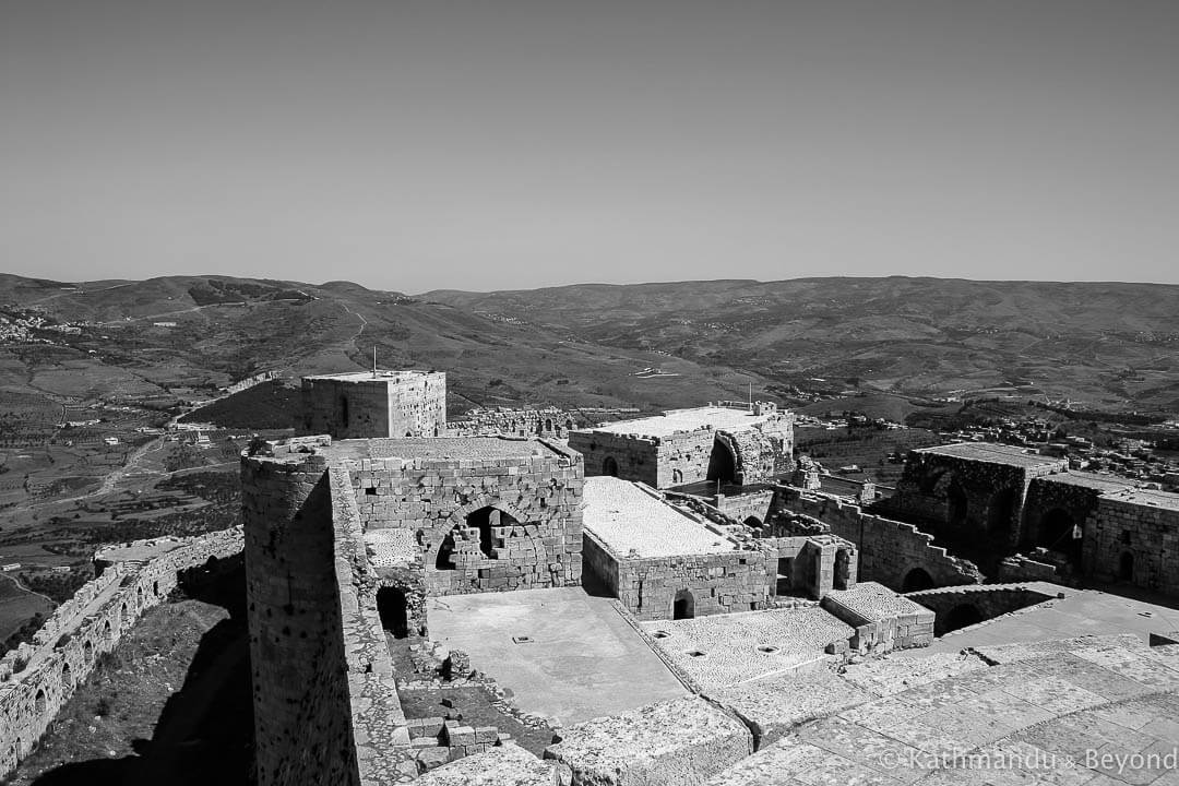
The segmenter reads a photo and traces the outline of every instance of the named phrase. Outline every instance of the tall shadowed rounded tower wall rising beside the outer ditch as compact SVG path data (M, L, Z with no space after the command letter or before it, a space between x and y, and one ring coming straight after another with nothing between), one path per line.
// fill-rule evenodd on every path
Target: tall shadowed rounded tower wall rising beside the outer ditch
M242 461L259 786L358 784L328 462Z

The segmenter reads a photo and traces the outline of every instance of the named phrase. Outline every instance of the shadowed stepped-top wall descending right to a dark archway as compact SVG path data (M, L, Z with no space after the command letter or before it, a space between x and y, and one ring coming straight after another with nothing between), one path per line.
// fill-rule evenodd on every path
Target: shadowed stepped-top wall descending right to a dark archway
M921 568L935 584L979 583L982 574L974 563L949 555L933 544L933 535L913 524L865 514L859 506L834 497L802 495L784 489L784 507L822 521L832 535L851 541L859 549L859 579L877 581L901 592L909 572Z

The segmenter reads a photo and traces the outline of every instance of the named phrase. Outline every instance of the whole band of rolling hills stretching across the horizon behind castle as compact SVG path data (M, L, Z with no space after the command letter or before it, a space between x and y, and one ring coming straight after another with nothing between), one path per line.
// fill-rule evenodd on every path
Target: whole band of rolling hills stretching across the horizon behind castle
M455 411L654 409L744 398L750 383L779 397L1007 392L1179 410L1179 288L1154 284L810 278L410 297L349 282L0 276L0 313L44 322L0 341L0 388L83 399L367 368L376 345L382 366L447 370Z

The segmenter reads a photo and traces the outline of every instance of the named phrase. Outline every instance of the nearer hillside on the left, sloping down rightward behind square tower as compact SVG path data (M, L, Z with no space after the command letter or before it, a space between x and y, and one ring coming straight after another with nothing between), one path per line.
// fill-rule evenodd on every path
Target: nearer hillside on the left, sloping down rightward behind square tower
M382 366L447 370L455 412L527 403L679 407L743 397L750 382L755 390L769 384L714 361L605 346L349 282L0 276L0 316L17 324L29 315L59 324L0 338L0 389L106 401L165 392L199 398L263 370L298 377L368 368L374 345ZM635 376L651 366L678 376Z

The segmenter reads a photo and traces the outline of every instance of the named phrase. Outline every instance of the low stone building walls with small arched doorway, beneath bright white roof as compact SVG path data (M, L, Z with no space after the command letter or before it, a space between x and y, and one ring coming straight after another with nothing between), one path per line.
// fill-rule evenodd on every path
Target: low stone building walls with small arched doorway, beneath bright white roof
M632 559L615 554L586 530L586 561L639 620L668 620L677 593L692 594L694 616L765 608L772 563L757 550Z

